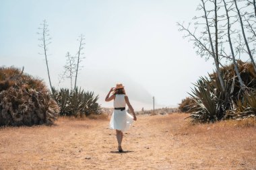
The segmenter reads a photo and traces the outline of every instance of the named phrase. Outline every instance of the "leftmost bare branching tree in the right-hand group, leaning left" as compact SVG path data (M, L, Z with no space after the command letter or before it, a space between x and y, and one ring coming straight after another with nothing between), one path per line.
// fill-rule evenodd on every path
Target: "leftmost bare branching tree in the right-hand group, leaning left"
M190 24L187 28L184 26L184 24L180 23L178 23L178 26L180 27L180 31L187 32L185 37L189 37L189 40L194 42L194 46L197 48L197 54L199 54L201 57L214 58L218 79L220 80L222 91L225 91L224 80L220 72L220 51L218 48L222 44L222 42L219 42L218 40L220 40L220 38L223 36L221 35L222 32L218 28L218 21L221 19L221 17L223 17L222 15L218 15L218 10L220 9L218 5L220 2L221 1L217 0L201 0L201 3L197 9L202 10L203 15L193 18L199 21L195 22L196 27L193 32L189 30ZM206 3L212 3L214 5L214 9L206 9ZM198 26L203 26L203 31L201 31L201 34L199 35L197 34ZM212 38L212 34L214 34L215 39Z

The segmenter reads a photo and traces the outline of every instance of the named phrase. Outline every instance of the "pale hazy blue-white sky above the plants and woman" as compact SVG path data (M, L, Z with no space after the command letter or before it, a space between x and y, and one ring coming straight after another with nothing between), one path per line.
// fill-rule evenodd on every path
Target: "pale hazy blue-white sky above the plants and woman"
M148 104L177 105L188 96L191 83L212 72L212 61L196 56L193 45L178 32L177 22L191 22L199 0L1 0L0 65L25 67L25 72L48 84L44 57L36 34L43 19L52 44L49 67L54 86L75 54L77 38L86 36L78 85L100 95L111 86L125 85L135 108ZM68 87L69 82L59 87ZM146 107L146 108L147 108Z

